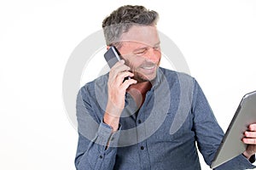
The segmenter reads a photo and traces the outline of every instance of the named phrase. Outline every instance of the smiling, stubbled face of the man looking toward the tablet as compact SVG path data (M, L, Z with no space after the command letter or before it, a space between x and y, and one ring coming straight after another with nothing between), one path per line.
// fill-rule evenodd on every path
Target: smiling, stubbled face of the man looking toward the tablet
M138 82L151 81L160 65L160 39L156 26L132 26L121 37L119 52Z

